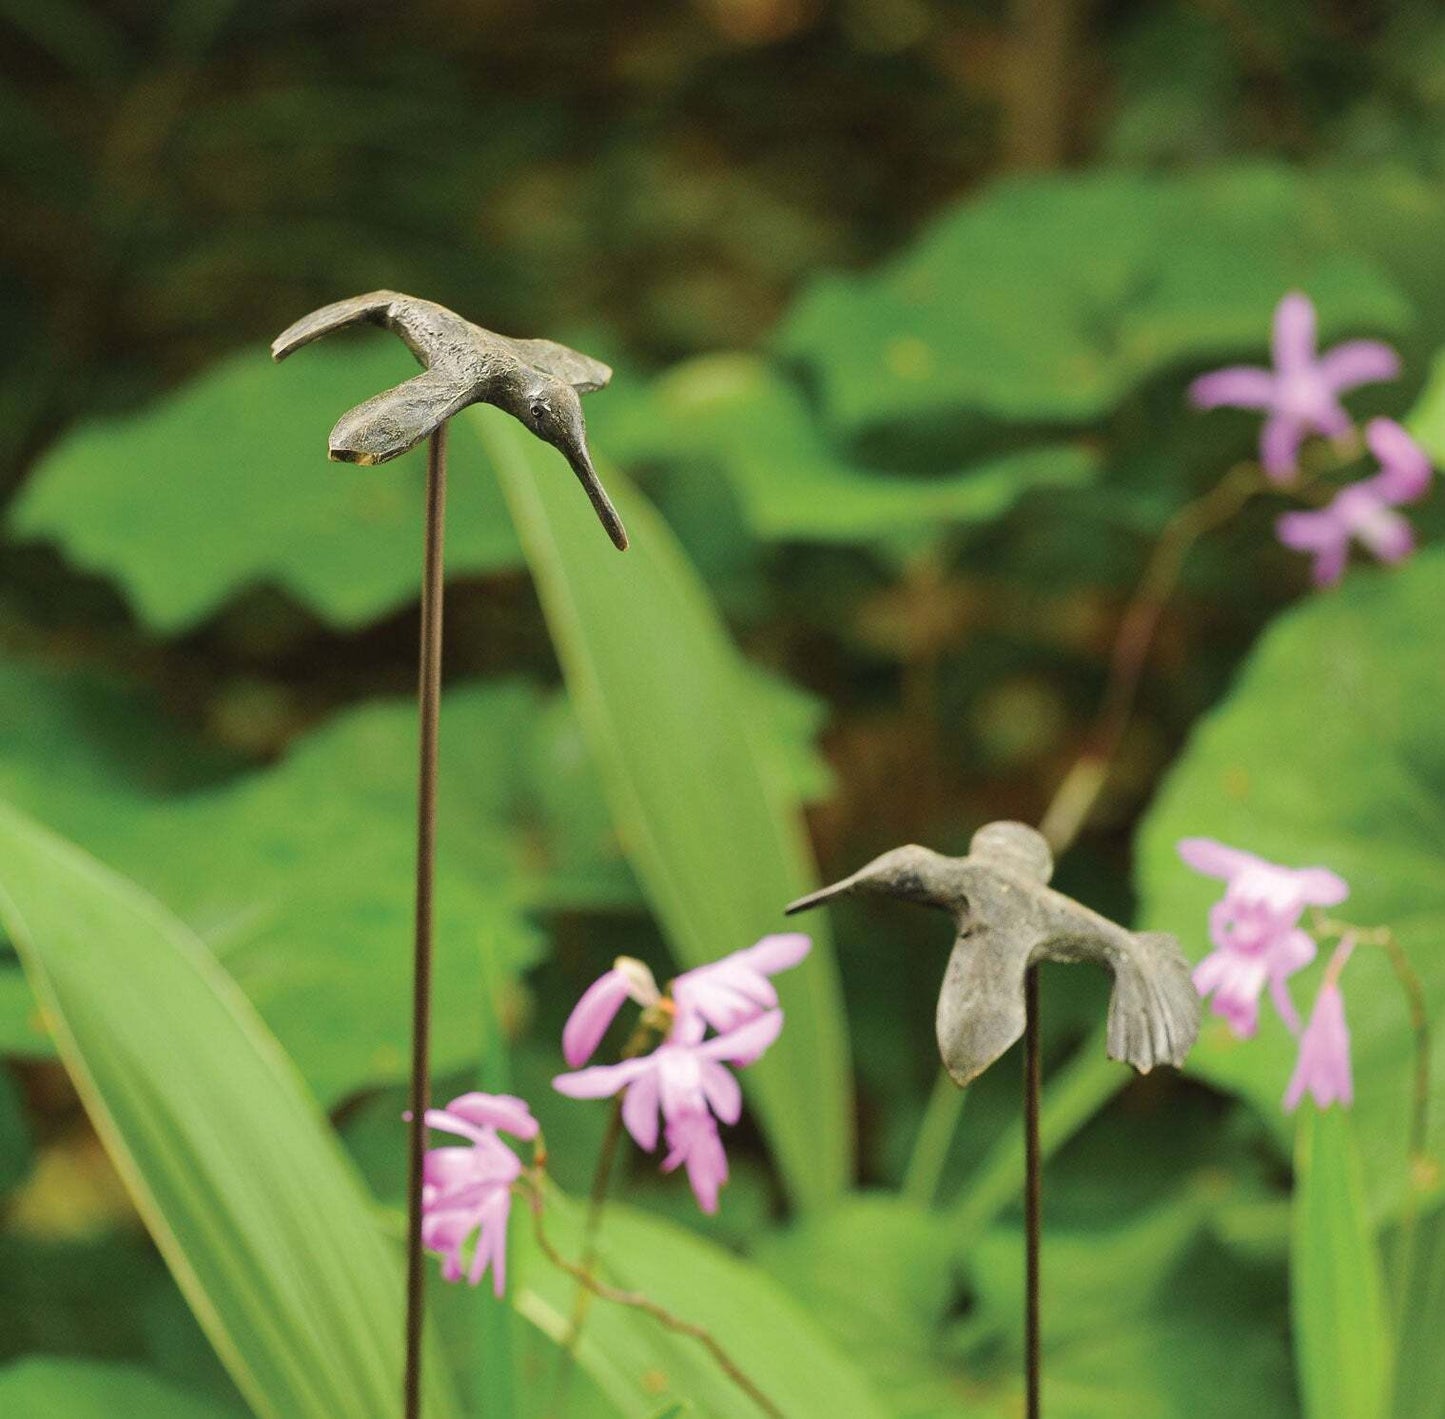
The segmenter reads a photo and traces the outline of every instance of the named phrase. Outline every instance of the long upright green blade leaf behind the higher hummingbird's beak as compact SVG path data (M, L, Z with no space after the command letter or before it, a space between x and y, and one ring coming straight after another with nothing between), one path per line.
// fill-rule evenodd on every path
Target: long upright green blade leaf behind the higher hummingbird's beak
M772 725L666 523L616 474L633 546L618 553L555 455L514 420L468 418L501 478L568 689L629 857L682 965L785 926L812 881L799 803ZM462 441L458 441L461 445ZM788 1027L744 1074L795 1201L851 1172L853 1103L832 945L779 980Z

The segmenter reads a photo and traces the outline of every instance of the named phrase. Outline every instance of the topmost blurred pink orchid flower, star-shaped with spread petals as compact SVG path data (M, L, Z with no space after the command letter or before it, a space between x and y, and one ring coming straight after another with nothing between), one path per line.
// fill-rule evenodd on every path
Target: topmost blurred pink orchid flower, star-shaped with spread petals
M1379 340L1347 340L1316 354L1315 306L1298 290L1274 308L1272 370L1230 366L1202 374L1189 386L1198 409L1267 410L1260 431L1260 462L1276 483L1295 477L1306 434L1341 438L1353 428L1340 396L1357 384L1393 380L1400 357Z

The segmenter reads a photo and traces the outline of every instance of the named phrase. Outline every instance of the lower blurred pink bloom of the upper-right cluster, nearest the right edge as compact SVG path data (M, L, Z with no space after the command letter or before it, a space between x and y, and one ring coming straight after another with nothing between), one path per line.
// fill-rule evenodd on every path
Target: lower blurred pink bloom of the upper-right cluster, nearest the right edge
M1371 419L1366 442L1380 461L1373 478L1342 488L1328 507L1285 513L1274 523L1285 546L1314 553L1318 587L1334 585L1344 575L1351 542L1381 562L1400 562L1415 551L1415 532L1394 509L1425 496L1433 475L1431 461L1393 419Z

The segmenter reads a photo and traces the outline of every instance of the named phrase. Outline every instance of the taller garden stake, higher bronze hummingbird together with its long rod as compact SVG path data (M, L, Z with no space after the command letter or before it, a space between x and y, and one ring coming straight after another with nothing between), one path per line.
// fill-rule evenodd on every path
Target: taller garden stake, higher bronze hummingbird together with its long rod
M405 384L344 413L331 431L328 455L338 462L379 464L431 438L426 458L426 545L422 571L420 764L416 793L416 931L412 996L412 1084L406 1231L406 1374L403 1412L422 1406L422 1162L431 1098L432 877L436 857L436 725L442 669L442 527L447 507L447 420L467 405L504 409L571 464L607 535L626 549L627 533L587 451L578 396L601 389L613 371L551 340L510 340L462 319L445 306L394 290L353 296L302 316L272 344L285 360L293 350L358 322L402 337L425 366Z

